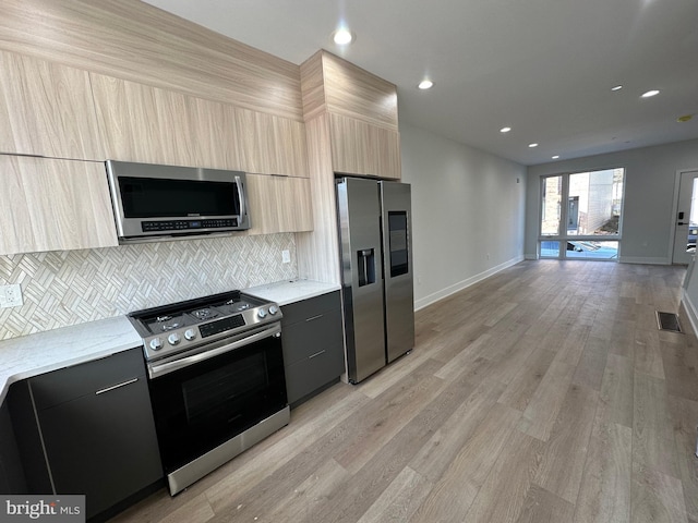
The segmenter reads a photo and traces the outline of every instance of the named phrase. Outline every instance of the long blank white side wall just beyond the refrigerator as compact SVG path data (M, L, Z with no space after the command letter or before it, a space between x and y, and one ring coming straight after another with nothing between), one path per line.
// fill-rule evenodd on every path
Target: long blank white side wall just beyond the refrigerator
M400 147L416 308L524 259L524 166L402 123Z

